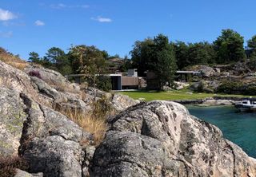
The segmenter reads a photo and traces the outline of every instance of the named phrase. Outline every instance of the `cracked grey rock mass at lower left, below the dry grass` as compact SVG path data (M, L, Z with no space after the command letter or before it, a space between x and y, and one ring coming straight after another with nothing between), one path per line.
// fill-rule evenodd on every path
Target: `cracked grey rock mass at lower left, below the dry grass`
M20 155L31 173L44 176L89 175L94 153L90 133L10 88L0 87L0 102L1 155Z

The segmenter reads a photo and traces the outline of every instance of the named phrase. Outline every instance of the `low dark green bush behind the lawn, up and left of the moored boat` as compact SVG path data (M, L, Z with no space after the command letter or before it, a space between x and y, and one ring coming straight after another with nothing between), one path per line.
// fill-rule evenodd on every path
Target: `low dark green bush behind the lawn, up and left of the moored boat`
M223 82L222 85L218 86L217 92L222 92L226 94L242 93L242 83L234 81Z

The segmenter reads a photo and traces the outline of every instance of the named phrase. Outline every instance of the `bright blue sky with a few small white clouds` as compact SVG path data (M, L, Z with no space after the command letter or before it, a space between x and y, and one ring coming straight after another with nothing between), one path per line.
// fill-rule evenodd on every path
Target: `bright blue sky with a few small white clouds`
M171 41L214 41L233 29L256 34L254 0L1 0L0 46L28 58L52 46L96 45L124 56L134 41L166 34Z

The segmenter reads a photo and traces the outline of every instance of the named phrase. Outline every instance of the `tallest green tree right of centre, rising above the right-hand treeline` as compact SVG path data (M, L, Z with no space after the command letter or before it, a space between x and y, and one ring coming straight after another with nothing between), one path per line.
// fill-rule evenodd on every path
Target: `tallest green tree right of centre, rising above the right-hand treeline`
M214 41L218 63L225 64L234 61L243 61L245 58L243 43L244 39L239 33L230 29L222 30L222 35Z

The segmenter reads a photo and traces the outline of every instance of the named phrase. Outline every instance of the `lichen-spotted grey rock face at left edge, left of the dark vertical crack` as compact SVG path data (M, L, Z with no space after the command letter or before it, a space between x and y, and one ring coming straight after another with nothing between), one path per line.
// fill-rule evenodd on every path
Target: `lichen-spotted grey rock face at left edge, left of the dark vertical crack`
M18 92L0 86L0 156L18 155L25 104Z

